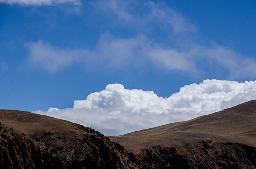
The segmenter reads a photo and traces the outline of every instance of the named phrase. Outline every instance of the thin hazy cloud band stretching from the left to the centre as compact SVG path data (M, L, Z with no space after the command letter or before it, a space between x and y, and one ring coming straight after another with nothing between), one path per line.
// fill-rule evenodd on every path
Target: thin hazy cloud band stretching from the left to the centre
M145 59L144 50L149 49L149 41L143 36L130 39L115 38L103 34L94 49L59 48L43 41L26 43L28 63L40 66L50 72L76 62L89 68L100 66L106 69L124 68Z

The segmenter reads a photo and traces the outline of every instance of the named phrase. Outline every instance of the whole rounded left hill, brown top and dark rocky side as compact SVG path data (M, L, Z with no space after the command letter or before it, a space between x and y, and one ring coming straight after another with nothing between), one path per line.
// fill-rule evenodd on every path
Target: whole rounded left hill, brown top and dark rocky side
M134 168L119 144L91 128L17 110L0 110L0 169Z

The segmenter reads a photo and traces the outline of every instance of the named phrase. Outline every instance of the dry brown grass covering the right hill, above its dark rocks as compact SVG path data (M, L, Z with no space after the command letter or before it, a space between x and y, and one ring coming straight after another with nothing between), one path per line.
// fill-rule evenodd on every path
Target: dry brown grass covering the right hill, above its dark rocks
M198 139L239 142L256 146L256 100L189 121L110 137L127 150L138 154L149 146L182 146Z

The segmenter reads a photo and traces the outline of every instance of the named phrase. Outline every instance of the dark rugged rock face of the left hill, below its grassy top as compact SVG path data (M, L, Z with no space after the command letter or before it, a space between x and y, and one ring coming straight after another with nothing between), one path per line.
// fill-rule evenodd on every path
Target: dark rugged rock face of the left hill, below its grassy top
M76 146L58 146L56 131L43 132L40 140L0 126L0 169L136 168L121 145L91 128L77 125L84 134L81 140L72 140Z

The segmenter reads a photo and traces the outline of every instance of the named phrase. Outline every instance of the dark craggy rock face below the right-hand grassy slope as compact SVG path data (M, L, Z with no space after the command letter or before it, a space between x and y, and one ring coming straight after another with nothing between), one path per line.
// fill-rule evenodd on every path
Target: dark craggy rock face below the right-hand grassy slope
M201 142L202 143L202 142ZM256 169L256 148L238 143L217 143L211 147L187 145L178 153L175 147L154 146L140 154L143 169Z

